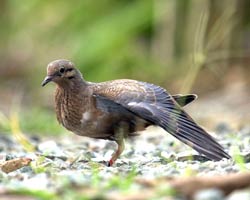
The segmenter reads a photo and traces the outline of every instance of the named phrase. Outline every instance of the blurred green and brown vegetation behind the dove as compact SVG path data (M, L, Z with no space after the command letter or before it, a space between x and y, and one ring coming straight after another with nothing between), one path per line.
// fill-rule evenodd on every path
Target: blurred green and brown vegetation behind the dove
M226 88L247 104L237 91L250 91L249 8L249 0L1 0L0 130L11 131L17 113L25 132L62 132L55 88L40 86L59 58L88 81L138 79L200 97Z

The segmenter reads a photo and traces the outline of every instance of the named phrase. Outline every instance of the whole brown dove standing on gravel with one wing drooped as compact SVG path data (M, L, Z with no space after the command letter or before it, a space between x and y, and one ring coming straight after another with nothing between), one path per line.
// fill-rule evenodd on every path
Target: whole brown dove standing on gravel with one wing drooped
M211 160L230 158L223 147L201 128L183 106L196 95L170 95L160 86L130 79L101 83L85 81L68 60L48 64L42 82L56 83L57 120L80 136L115 141L111 166L124 150L124 139L150 125L160 126Z

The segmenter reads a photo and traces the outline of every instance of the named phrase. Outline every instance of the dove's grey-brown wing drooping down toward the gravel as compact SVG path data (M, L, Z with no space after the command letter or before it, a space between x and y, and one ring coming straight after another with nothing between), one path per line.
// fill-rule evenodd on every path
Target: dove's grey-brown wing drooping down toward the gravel
M105 97L120 104L140 118L162 127L212 160L230 158L222 146L159 86L125 79L95 84L93 90L97 98Z

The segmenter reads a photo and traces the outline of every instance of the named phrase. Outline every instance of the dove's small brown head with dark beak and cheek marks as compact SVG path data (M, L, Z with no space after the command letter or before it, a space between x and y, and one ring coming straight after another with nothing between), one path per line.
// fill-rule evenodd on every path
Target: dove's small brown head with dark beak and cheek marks
M65 85L72 82L73 79L81 79L81 73L75 68L75 65L69 60L55 60L48 64L47 76L42 82L42 86L53 81L58 85Z

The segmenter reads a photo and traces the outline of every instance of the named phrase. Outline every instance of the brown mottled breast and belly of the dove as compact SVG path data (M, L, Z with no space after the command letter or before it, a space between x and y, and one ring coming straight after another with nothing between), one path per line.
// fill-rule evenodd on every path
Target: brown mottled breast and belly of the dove
M120 124L127 124L127 136L133 136L149 124L124 109L103 110L96 108L92 95L84 96L72 91L58 91L56 114L59 123L80 136L111 139Z

